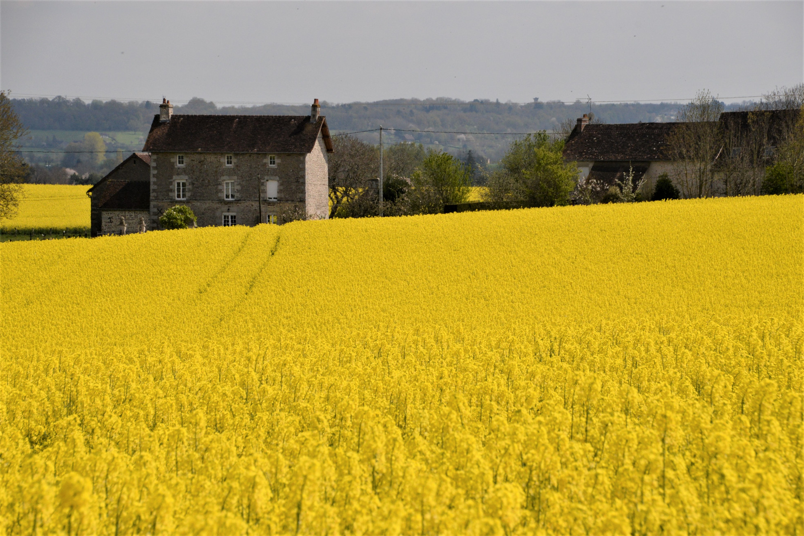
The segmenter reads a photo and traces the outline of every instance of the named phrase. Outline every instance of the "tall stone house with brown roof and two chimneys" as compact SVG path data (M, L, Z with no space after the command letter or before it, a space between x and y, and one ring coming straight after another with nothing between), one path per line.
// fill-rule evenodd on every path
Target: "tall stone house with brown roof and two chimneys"
M199 227L273 223L294 211L329 215L326 118L315 100L310 116L173 115L165 101L144 151L150 153L150 228L175 205Z

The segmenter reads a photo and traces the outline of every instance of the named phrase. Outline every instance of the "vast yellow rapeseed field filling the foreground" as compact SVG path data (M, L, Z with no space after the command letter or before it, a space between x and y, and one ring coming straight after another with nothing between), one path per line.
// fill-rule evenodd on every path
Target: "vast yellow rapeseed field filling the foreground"
M802 215L0 244L0 532L804 534Z

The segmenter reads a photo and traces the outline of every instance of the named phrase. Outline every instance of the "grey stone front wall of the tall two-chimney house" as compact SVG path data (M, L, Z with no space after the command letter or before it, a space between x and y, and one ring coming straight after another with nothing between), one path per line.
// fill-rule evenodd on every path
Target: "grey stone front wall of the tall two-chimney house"
M184 166L177 156L183 154ZM232 153L229 153L232 154ZM159 216L175 205L187 205L198 218L199 227L223 225L224 214L236 214L238 225L260 223L278 214L281 206L305 203L304 154L275 154L276 165L269 165L269 154L233 153L232 166L227 153L151 153L150 222L158 227ZM175 198L175 182L187 181L187 199ZM267 181L278 182L278 200L269 202ZM235 182L234 200L224 199L224 182Z

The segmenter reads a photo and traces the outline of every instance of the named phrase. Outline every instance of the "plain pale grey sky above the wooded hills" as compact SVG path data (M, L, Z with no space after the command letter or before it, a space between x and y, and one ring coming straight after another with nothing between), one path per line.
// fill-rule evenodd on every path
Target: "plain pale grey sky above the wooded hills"
M0 2L17 97L743 100L802 80L801 1Z

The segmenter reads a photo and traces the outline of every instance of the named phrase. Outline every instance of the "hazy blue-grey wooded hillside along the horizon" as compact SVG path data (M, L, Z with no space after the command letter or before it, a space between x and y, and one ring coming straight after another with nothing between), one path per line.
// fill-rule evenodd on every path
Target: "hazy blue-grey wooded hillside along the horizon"
M32 131L48 131L46 135L31 137L27 145L59 148L65 136L61 132L100 133L146 133L158 104L150 101L123 103L116 100L92 101L87 104L80 99L15 99L14 108L23 123ZM675 121L679 103L661 104L594 104L592 112L606 123L636 123L638 121ZM730 105L728 108L736 108ZM174 113L211 114L269 114L305 115L309 106L265 104L263 106L218 107L213 102L193 98L183 106L176 106ZM468 133L523 133L536 130L560 130L562 122L574 121L589 113L589 104L576 101L573 104L534 102L529 104L503 103L490 100L399 99L377 102L331 104L322 102L322 114L326 115L333 133L376 129L383 125L388 129L422 131L454 131ZM36 133L36 132L35 132ZM364 141L377 142L377 133L361 133ZM113 136L115 137L115 136ZM418 141L425 146L442 148L450 153L472 149L481 158L494 162L503 155L513 136L492 136L455 133L389 132L386 141ZM35 144L33 141L35 140ZM132 138L136 145L137 137ZM128 144L126 144L128 145ZM117 146L117 145L116 145ZM125 149L138 149L125 146Z

